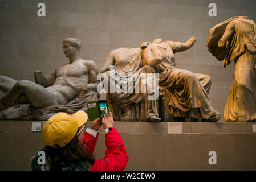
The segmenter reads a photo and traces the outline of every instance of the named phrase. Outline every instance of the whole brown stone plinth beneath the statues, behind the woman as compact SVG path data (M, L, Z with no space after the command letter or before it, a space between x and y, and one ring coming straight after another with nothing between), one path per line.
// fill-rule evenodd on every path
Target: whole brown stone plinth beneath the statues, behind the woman
M32 156L43 148L44 123L0 121L0 170L30 168ZM127 148L125 170L256 170L256 123L115 122L114 127ZM209 164L210 151L217 164ZM104 154L101 129L94 155Z

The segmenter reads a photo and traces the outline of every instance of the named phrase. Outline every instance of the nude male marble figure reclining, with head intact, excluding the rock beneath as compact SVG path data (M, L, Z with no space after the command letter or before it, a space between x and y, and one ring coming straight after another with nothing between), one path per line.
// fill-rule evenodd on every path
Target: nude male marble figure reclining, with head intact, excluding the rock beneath
M13 80L0 76L0 111L18 104L31 104L36 108L65 105L83 90L97 92L97 67L92 60L83 60L80 42L74 38L63 40L63 51L69 63L60 65L46 77L34 71L36 84L28 80Z

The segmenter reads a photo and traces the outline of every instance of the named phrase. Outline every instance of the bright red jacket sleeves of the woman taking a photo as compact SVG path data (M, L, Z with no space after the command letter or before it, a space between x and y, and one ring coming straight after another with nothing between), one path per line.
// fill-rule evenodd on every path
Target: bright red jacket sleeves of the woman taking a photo
M83 144L86 145L94 153L94 148L99 138L99 133L95 138L89 133L84 133ZM128 155L125 150L124 142L118 131L112 128L105 134L105 144L107 150L105 151L105 157L102 159L96 159L92 164L91 171L121 171L124 170L127 162Z

